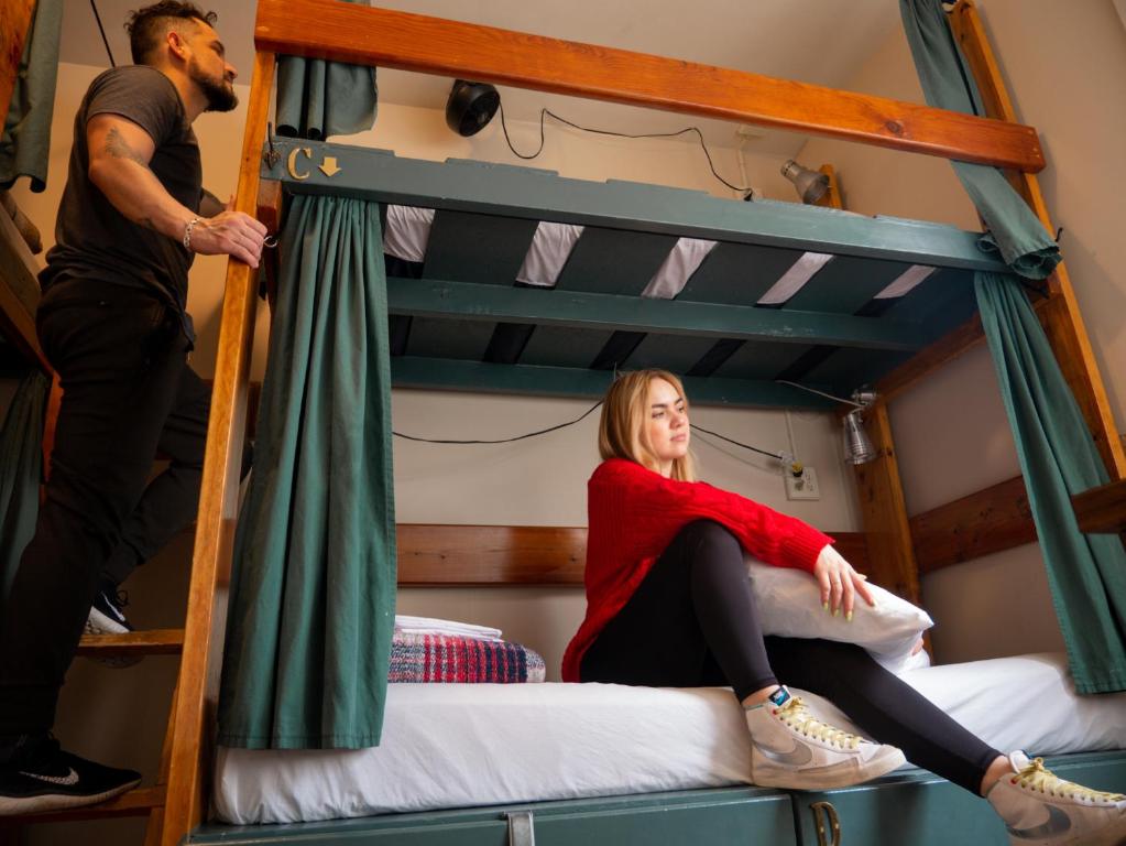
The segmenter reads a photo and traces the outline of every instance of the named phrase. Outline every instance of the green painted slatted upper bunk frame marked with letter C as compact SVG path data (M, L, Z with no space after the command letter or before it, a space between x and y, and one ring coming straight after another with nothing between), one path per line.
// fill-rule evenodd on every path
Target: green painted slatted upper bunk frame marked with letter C
M397 386L598 397L614 367L592 363L628 333L614 365L688 374L696 402L829 409L776 377L813 353L798 377L850 395L973 314L974 270L1004 270L978 233L936 223L343 144L271 139L262 152L261 178L291 194L437 210L422 278L387 280L390 311L412 327L392 357ZM554 288L516 284L539 221L586 228ZM718 246L676 300L640 296L681 237ZM833 258L784 305L756 305L805 251ZM900 300L874 300L917 264L939 270ZM527 328L518 354L486 360L513 324Z

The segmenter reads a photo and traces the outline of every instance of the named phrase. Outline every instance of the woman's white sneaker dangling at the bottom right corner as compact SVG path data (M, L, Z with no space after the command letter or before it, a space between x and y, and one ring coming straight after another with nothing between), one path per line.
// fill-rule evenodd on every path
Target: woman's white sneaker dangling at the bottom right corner
M1012 775L989 792L1009 843L1021 846L1118 846L1126 844L1126 796L1065 782L1044 768L1040 758L1021 751L1009 756Z

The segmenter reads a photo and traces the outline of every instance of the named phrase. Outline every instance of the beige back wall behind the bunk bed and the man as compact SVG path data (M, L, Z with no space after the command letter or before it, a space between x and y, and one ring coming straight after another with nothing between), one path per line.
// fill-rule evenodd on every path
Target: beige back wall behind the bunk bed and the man
M21 207L37 223L46 246L53 242L55 211L63 188L74 112L90 80L101 69L60 68L52 136L48 189L32 195L15 190ZM248 88L238 87L245 100ZM565 112L563 113L565 115ZM196 123L207 187L221 197L236 182L236 157L244 107L230 115L204 115ZM521 150L538 141L538 127L510 122ZM439 108L382 104L376 131L358 140L391 148L402 155L445 159L477 158L512 163L498 122L472 140L454 136ZM733 139L734 142L734 139ZM734 149L713 150L729 181L741 180ZM590 179L634 179L731 196L709 175L699 146L673 141L601 139L549 125L538 167ZM765 195L792 198L792 186L778 176L777 158L745 157L747 176ZM195 315L198 347L193 365L204 376L214 371L218 310L225 261L199 257L191 271L189 309ZM263 367L268 320L260 310L253 371ZM395 391L397 430L425 437L490 438L521 434L579 417L590 402L488 397L429 391ZM597 463L596 416L543 438L495 447L461 447L395 443L397 519L403 523L586 524L586 479ZM706 478L767 505L788 510L829 529L855 531L858 525L851 482L842 473L839 431L826 415L738 411L699 408L694 419L730 437L770 451L789 449L815 467L824 490L816 502L787 504L776 462L726 445L696 443ZM182 618L190 536L178 537L158 559L126 585L129 618L141 627L178 625ZM506 634L538 649L549 677L558 677L563 649L582 617L580 589L409 589L400 594L409 614L447 616L497 624ZM84 660L71 669L60 703L56 733L68 748L98 760L143 771L151 781L163 732L176 661L148 658L136 667L109 671ZM38 826L25 831L27 843L140 843L137 820L114 820L83 827Z

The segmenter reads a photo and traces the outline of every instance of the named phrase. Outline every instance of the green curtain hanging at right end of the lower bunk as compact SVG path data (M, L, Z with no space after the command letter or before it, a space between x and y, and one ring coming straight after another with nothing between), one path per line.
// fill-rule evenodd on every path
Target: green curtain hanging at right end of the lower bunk
M1126 691L1126 550L1082 534L1071 507L1109 481L1106 467L1020 282L978 273L975 284L1075 687Z

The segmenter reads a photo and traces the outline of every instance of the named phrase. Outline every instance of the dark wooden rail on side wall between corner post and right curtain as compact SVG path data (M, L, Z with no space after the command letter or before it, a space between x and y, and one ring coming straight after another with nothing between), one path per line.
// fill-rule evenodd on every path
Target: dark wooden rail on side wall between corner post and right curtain
M1022 477L932 508L911 518L920 573L1036 542Z

